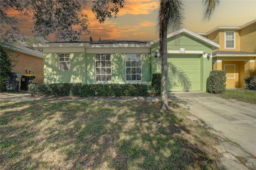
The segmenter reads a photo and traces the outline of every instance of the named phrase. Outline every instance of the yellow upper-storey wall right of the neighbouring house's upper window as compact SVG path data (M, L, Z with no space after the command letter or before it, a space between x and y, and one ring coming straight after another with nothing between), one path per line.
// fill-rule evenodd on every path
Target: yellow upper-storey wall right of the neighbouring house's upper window
M256 53L256 23L240 30L241 51Z

